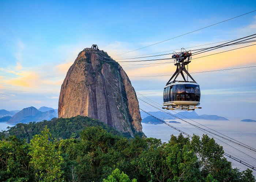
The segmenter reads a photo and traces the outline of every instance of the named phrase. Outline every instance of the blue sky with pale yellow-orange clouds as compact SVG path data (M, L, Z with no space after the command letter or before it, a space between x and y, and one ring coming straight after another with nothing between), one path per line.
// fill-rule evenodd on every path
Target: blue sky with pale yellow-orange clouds
M170 76L138 76L172 75L176 69L173 63L128 65L135 63L121 63L119 59L178 51L182 47L204 48L209 45L200 45L252 35L256 32L256 12L171 39L254 10L253 0L0 1L0 109L57 108L68 68L78 53L92 44L120 61L135 91L162 103L163 87ZM171 40L139 49L166 39ZM225 47L202 55L251 44ZM250 46L192 59L189 72L256 66L255 50L256 46ZM122 54L125 52L129 53ZM199 56L193 58L196 57ZM168 60L154 63L164 62ZM196 112L256 119L255 71L256 67L252 67L191 74L200 84L202 94L202 109ZM153 111L144 103L139 104Z

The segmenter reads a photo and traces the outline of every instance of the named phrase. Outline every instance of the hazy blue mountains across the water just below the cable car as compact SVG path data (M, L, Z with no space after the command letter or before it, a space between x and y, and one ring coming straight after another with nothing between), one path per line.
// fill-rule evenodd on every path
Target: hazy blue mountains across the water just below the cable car
M192 111L192 112L183 111L183 112L178 112L177 114L174 114L173 112L170 112L170 111L167 111L167 112L169 112L170 114L177 116L178 118L181 118L181 119L189 118L189 119L207 119L207 120L228 120L227 118L217 116L217 115L206 115L206 114L198 115L195 111ZM159 119L177 119L174 116L167 114L166 112L162 112L162 111L157 111L157 112L149 111L148 113L154 115L155 117L157 117ZM140 115L141 115L142 119L144 119L148 116L148 114L143 111L140 111Z

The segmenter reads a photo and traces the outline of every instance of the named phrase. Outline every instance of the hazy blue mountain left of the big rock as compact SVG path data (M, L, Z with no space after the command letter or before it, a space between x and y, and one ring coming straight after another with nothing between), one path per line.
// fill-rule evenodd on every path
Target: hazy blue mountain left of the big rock
M16 113L8 123L28 123L28 122L39 122L42 120L50 120L58 117L54 110L41 112L35 107L27 107Z

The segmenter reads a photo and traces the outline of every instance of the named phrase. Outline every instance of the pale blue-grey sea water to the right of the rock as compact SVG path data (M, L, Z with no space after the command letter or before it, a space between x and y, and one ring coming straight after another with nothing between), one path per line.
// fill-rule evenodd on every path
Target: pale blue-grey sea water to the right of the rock
M185 123L184 121L178 120L178 119L171 119L178 122L181 122L180 124L177 123L168 123L181 131L186 132L189 135L199 135L202 137L203 134L206 134L205 132L197 129L196 127ZM204 119L192 119L193 121L200 123L197 124L189 119L184 119L192 124L196 124L197 126L201 126L200 124L203 124L204 126L207 126L215 131L220 132L221 134L224 134L230 138L233 138L239 142L244 143L245 145L251 146L254 149L256 149L256 122L241 122L241 119L230 119L229 121L223 121L223 120L204 120ZM165 120L170 121L170 120ZM205 128L209 130L208 128ZM170 140L170 135L178 136L180 132L177 130L174 130L172 127L167 126L166 124L145 124L142 123L142 130L144 134L147 137L153 137L161 139L162 142L168 142ZM212 134L211 134L212 135ZM184 135L185 136L185 135ZM252 152L249 149L242 148L234 143L231 143L229 141L226 141L222 138L219 138L215 135L210 136L213 137L215 141L223 146L223 149L225 153L230 154L238 159L241 159L242 161L251 164L253 166L256 166L256 152ZM225 142L225 143L224 143ZM230 145L230 146L229 146ZM238 151L238 150L240 151ZM244 153L242 153L242 152ZM246 155L247 154L247 155ZM249 156L255 158L251 158ZM227 157L227 160L232 162L233 167L237 167L240 170L246 170L248 167L242 165L241 163ZM253 171L253 175L256 177L256 171Z

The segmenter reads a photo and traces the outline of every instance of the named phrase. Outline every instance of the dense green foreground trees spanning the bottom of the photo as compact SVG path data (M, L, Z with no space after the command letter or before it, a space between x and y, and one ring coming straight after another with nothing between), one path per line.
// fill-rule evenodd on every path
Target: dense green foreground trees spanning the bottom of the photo
M97 120L87 117L68 120L75 119L88 119L78 139L55 140L53 135L60 134L51 131L62 129L48 129L46 124L30 143L2 137L0 181L255 181L251 170L233 169L222 147L207 135L191 140L172 135L162 143L155 138L126 138L105 125L89 126ZM59 126L65 120L60 119ZM39 127L36 124L30 123Z

